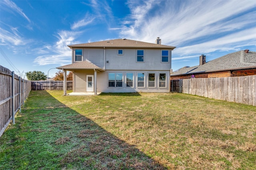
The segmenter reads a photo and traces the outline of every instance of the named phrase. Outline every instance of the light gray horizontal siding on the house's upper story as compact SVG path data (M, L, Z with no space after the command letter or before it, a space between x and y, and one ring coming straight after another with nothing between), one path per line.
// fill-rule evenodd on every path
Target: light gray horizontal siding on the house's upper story
M119 48L106 48L104 61L104 48L84 48L83 61L88 59L90 62L106 70L170 70L171 69L171 53L169 50L168 63L161 62L161 49L143 49L144 62L136 62L137 49L123 49L124 55L118 55ZM120 48L122 49L122 48ZM74 62L73 49L73 62ZM107 63L108 61L108 63Z

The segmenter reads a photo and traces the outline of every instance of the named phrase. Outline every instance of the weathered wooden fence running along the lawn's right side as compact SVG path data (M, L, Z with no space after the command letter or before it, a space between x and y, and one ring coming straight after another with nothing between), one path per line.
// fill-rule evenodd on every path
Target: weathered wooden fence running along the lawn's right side
M256 75L171 80L171 92L256 106Z

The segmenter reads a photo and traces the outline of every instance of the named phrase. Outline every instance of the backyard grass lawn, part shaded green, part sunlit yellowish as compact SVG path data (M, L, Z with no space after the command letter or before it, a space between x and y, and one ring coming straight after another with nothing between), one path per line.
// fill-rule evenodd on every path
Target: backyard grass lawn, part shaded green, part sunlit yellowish
M32 91L0 169L256 169L256 107L176 93Z

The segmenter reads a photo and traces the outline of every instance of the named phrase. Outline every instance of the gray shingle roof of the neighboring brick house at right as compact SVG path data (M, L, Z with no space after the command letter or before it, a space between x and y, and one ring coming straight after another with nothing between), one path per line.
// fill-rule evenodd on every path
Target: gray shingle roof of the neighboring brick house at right
M171 76L247 68L256 68L256 52L249 51L245 53L242 50L208 61L200 66L180 68L178 71L172 73Z

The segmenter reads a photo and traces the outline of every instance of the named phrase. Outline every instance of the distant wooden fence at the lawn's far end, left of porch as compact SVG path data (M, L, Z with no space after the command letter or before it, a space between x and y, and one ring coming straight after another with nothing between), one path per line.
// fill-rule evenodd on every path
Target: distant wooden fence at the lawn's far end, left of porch
M63 81L32 81L32 90L63 90ZM72 90L73 82L67 81L67 90Z

